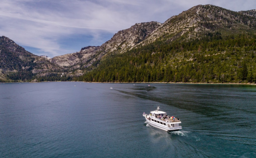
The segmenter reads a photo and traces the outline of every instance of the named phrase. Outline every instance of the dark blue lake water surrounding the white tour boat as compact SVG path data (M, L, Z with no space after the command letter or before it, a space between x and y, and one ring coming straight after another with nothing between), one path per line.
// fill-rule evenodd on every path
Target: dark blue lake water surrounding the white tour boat
M0 157L256 157L256 86L150 85L0 84ZM182 130L145 124L157 104Z

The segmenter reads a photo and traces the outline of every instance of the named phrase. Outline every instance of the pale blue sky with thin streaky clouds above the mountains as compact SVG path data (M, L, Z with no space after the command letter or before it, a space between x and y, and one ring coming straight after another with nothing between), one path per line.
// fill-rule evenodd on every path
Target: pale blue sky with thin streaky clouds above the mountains
M0 0L0 36L54 57L102 45L135 23L164 23L199 4L256 9L256 0Z

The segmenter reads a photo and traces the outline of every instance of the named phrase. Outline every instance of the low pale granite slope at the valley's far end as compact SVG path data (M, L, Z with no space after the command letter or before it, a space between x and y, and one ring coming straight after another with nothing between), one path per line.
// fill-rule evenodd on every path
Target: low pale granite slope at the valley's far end
M99 46L88 46L82 48L79 52L56 56L52 58L52 63L58 64L61 67L76 66L80 63L86 63L95 55ZM79 68L80 66L76 67Z

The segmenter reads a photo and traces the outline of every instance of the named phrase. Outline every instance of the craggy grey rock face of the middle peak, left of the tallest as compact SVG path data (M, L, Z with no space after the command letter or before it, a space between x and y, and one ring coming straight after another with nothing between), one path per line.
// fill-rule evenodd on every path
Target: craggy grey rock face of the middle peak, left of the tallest
M160 25L159 22L136 23L134 26L114 34L110 40L101 45L101 50L122 52L146 39Z

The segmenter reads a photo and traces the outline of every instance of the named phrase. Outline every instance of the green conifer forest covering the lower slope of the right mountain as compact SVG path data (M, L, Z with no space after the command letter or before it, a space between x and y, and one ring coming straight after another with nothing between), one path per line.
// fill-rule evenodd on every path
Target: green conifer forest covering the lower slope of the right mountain
M75 80L92 82L247 83L256 80L256 35L206 33L188 40L156 40L108 54ZM95 64L94 64L95 65Z

